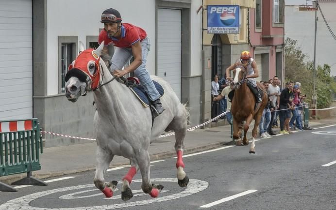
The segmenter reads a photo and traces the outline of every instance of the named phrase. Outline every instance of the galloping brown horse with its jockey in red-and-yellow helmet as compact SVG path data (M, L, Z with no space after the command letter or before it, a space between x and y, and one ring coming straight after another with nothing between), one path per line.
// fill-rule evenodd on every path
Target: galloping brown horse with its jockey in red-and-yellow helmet
M230 71L234 70L234 79L230 77ZM264 87L255 81L254 78L258 77L259 71L255 60L251 58L248 51L243 51L240 60L232 64L226 69L227 80L233 85L234 89L230 92L229 98L232 99L231 113L233 116L234 132L233 137L237 140L237 145L241 144L240 132L244 129L243 144L248 145L247 131L250 123L254 119L254 127L252 131L252 144L250 153L254 153L254 138L257 135L257 127L264 107L267 104L267 93ZM260 94L259 89L265 92ZM232 96L234 93L234 96ZM230 97L231 96L231 97ZM243 124L243 121L245 123Z

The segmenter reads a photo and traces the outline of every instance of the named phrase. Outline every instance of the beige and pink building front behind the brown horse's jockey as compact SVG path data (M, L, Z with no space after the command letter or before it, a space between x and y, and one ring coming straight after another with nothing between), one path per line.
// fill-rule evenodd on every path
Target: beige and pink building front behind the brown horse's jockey
M274 75L284 77L284 0L204 0L207 5L239 5L237 34L207 33L207 16L203 11L203 79L202 120L211 119L211 81L248 50L257 62L257 81ZM283 80L283 79L282 79Z

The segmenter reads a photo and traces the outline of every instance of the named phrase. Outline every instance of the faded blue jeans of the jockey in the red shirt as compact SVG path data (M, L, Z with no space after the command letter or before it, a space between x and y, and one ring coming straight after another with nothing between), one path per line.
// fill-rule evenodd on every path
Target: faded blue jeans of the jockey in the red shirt
M155 101L160 98L160 93L156 90L153 81L151 80L150 74L146 70L146 62L148 52L151 48L150 39L147 37L141 41L142 49L142 63L135 69L134 74L138 77L141 84L143 85L145 91L147 92L151 101ZM112 65L110 67L110 72L118 69L121 70L122 67L133 57L132 48L120 48L116 47L115 53L111 59Z

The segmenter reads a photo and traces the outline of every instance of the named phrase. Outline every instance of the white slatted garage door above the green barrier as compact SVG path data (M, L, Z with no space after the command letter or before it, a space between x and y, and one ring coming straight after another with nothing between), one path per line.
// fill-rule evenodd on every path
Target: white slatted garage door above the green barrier
M1 0L0 8L0 120L32 118L32 1Z

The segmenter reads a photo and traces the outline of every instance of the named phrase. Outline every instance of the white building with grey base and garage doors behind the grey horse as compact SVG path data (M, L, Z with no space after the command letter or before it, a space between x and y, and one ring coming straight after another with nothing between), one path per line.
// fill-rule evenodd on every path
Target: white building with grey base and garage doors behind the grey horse
M202 15L196 10L200 5L201 0L0 0L1 10L7 10L7 18L0 17L0 21L8 23L0 24L4 26L0 30L5 31L0 39L6 41L0 42L0 63L8 72L0 73L1 78L6 76L5 84L0 85L17 84L0 90L1 100L8 101L0 107L0 120L36 117L44 131L93 137L92 93L71 103L65 97L64 80L68 65L78 54L79 42L86 48L97 47L103 28L100 15L113 7L123 22L146 30L151 39L148 71L171 84L181 102L190 107L190 124L198 124ZM19 22L23 18L25 22ZM5 55L2 49L6 48L19 61ZM45 139L47 147L85 142L54 135Z

